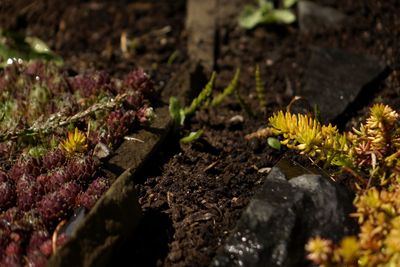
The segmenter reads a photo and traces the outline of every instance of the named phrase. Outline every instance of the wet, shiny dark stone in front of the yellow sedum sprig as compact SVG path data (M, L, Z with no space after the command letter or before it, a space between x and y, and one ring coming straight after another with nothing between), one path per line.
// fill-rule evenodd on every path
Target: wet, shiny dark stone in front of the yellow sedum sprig
M355 222L348 216L352 194L313 172L281 160L211 266L311 266L304 252L309 238L338 241L353 234Z

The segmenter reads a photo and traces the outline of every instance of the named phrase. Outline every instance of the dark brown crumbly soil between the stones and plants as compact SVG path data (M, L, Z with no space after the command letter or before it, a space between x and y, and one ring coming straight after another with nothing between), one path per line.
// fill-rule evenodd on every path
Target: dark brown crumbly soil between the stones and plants
M374 55L389 76L366 103L400 104L400 3L397 0L317 1L349 16L342 29L301 33L297 24L263 26L244 31L236 16L244 2L220 0L216 69L217 90L241 67L240 94L255 116L236 99L197 112L183 135L203 129L191 144L179 144L174 133L136 175L143 219L138 231L115 252L110 266L208 266L283 151L244 136L266 125L269 115L289 103L303 86L310 48L335 47ZM105 69L123 75L140 66L163 86L187 59L185 1L2 1L0 27L46 41L71 72ZM121 33L137 38L130 54L120 49ZM168 62L171 55L176 60ZM260 65L267 88L267 110L255 93L254 70ZM179 73L178 73L179 75ZM352 110L348 127L367 107ZM241 117L238 117L241 116ZM243 120L241 120L243 119ZM346 122L344 122L346 123Z

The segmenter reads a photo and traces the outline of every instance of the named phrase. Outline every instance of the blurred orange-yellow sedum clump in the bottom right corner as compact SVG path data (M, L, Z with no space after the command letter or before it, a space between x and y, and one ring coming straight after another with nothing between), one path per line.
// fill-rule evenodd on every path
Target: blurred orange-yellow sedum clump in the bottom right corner
M351 216L360 224L358 237L339 245L315 237L306 245L307 258L319 266L399 266L400 185L391 190L370 188L359 194Z

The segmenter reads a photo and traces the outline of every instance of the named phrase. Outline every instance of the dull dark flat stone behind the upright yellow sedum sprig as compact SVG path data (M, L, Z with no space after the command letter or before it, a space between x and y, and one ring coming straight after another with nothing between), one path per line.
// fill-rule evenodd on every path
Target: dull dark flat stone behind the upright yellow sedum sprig
M331 122L371 97L386 66L375 57L336 48L312 48L305 86L298 95L317 105L322 122Z

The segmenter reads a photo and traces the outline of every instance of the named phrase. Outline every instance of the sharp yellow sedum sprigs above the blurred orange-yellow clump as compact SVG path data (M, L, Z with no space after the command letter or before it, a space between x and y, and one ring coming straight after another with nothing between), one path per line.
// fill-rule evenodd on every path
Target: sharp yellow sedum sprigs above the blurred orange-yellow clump
M270 117L271 133L282 135L281 143L323 161L350 170L357 186L383 186L400 179L400 131L398 113L389 106L376 104L360 128L339 133L335 126L321 125L302 114L283 113Z

